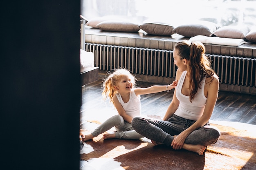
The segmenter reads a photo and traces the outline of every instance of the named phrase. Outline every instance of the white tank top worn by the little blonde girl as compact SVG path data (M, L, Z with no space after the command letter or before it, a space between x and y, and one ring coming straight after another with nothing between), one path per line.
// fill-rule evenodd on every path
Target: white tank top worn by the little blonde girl
M119 93L117 93L117 99L120 104L123 106L125 112L130 117L139 116L141 114L141 104L140 104L140 95L136 95L134 88L130 92L130 99L125 103Z

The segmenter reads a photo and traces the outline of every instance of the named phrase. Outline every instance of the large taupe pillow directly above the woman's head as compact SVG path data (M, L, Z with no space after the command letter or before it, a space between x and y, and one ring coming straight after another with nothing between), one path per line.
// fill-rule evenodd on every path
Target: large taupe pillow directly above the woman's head
M183 24L173 29L173 33L185 37L194 37L196 35L211 36L220 26L209 21L196 21L190 24Z

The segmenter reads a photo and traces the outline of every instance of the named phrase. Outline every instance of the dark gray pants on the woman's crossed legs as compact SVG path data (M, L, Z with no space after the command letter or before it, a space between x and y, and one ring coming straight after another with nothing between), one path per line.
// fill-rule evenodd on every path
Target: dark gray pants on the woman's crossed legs
M132 127L144 137L171 146L174 135L179 135L195 121L184 119L173 114L167 121L134 117ZM194 130L185 140L186 144L215 144L220 137L220 131L209 124Z

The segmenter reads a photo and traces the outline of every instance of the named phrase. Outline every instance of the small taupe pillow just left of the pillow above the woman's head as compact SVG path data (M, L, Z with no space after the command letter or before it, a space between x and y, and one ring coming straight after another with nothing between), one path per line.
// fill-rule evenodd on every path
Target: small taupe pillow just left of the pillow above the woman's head
M148 34L171 36L174 26L161 22L148 22L139 25L139 29L142 29Z

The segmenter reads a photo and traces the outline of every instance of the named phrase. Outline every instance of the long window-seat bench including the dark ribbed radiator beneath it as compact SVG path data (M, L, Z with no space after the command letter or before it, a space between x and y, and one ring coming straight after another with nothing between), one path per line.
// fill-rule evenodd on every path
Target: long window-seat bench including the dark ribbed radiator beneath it
M189 38L178 34L171 37L85 29L85 49L94 53L94 64L100 71L125 67L141 81L162 84L175 79L177 68L171 56L175 43L180 40ZM204 46L220 77L221 91L256 95L256 43Z

